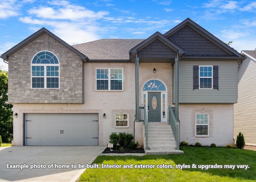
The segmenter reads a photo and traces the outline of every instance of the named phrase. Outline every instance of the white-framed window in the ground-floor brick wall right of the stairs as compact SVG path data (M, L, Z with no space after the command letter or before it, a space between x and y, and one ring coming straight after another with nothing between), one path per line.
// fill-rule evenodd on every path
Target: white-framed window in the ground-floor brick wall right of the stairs
M196 114L196 135L209 133L209 114Z

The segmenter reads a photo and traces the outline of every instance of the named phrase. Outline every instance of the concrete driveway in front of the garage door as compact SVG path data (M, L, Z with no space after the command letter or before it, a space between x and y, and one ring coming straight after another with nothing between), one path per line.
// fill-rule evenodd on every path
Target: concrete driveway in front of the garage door
M0 182L75 182L106 146L0 148ZM83 166L84 165L84 166Z

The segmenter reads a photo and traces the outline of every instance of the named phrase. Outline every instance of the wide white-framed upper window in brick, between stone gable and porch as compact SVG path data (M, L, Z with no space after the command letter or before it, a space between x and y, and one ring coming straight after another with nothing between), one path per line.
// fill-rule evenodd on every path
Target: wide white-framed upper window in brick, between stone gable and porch
M96 69L97 90L123 90L122 68L97 68Z

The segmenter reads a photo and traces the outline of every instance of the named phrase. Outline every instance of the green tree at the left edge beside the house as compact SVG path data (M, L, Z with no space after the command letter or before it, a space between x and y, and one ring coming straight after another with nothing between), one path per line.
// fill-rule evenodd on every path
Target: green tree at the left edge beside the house
M8 103L8 72L0 68L0 135L3 143L12 141L13 112Z

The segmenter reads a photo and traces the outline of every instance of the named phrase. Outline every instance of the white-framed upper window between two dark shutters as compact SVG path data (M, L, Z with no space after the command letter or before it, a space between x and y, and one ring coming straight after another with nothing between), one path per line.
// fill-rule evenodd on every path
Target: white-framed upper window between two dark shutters
M199 88L212 89L212 66L199 66Z

